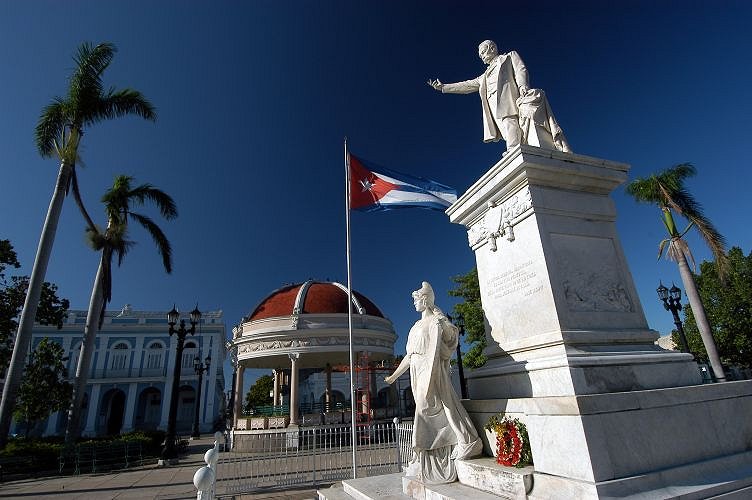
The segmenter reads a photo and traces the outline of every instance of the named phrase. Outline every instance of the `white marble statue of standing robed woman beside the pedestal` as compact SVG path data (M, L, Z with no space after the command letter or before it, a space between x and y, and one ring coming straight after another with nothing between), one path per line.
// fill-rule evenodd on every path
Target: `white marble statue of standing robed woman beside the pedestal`
M407 354L385 380L391 384L410 368L415 453L406 475L425 483L450 483L457 479L454 459L479 455L483 444L449 379L457 327L436 307L433 289L425 281L413 292L413 301L421 318L410 329Z

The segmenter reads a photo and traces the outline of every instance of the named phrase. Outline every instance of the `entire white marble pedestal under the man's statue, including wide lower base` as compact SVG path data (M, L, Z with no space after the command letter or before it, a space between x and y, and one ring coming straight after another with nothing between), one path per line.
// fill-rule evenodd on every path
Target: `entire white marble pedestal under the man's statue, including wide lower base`
M691 355L654 344L609 197L627 170L521 146L449 207L487 320L465 406L478 429L527 424L530 498L752 496L752 382L698 385Z

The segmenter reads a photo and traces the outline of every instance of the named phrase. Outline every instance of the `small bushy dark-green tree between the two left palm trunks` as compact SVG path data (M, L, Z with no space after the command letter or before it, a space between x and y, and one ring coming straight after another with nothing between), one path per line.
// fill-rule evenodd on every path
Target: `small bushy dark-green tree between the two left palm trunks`
M62 346L46 337L31 353L14 411L16 419L26 424L27 438L37 422L62 410L70 401L72 389L65 380L63 354Z

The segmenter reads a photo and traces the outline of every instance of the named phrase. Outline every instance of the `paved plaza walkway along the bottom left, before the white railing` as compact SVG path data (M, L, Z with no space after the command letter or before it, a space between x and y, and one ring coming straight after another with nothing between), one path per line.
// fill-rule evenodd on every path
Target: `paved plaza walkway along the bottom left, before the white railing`
M204 453L213 445L213 437L191 441L188 455L172 467L155 465L106 474L53 476L0 483L0 498L16 499L155 499L196 498L193 474L204 464ZM155 459L156 462L156 459ZM315 489L269 491L243 495L240 499L304 500L316 498Z

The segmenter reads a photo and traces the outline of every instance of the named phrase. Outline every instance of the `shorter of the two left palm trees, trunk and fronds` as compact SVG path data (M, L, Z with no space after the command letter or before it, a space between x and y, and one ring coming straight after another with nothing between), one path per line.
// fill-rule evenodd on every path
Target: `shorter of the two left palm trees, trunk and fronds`
M150 184L133 188L131 181L133 178L125 175L116 177L112 188L108 189L102 197L107 214L107 228L103 232L87 228L92 247L101 252L101 257L92 287L84 327L84 341L81 344L81 353L76 366L73 397L68 409L68 424L65 432L67 443L75 442L81 432L81 403L86 389L91 357L94 353L94 340L97 331L102 326L107 304L112 299L112 258L117 255L118 266L121 265L125 254L133 245L133 242L127 240L129 220L141 224L151 235L162 256L165 270L168 273L172 272L172 248L167 237L154 221L145 215L133 212L131 207L141 206L146 201L150 201L157 206L165 219L171 220L178 215L175 202L167 193Z

